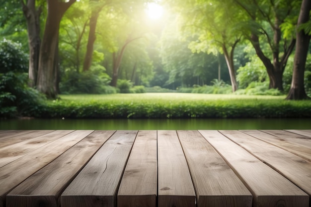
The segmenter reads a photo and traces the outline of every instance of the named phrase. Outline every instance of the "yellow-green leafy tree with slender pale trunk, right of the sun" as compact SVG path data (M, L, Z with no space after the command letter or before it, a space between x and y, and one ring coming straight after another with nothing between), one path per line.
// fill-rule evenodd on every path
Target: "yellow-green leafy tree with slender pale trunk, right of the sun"
M229 69L232 91L237 89L233 63L234 49L241 41L240 15L232 3L222 0L173 1L179 14L182 34L195 37L189 48L193 52L224 54ZM235 18L233 18L233 16Z

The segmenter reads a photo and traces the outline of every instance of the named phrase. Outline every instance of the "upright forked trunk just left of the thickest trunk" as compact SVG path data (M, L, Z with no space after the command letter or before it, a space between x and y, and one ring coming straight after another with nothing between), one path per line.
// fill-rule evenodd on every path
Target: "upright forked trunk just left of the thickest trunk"
M39 53L40 53L40 22L39 18L42 8L39 6L36 9L35 0L28 0L25 4L21 0L24 16L27 21L28 33L28 47L29 47L29 69L28 77L30 80L29 85L34 87L37 82L37 74L39 68Z

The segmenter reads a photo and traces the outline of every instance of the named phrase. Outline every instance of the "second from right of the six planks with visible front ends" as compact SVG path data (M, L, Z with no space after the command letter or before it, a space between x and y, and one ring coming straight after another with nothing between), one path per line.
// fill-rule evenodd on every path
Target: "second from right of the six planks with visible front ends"
M197 207L251 207L252 195L198 131L177 131L197 195Z

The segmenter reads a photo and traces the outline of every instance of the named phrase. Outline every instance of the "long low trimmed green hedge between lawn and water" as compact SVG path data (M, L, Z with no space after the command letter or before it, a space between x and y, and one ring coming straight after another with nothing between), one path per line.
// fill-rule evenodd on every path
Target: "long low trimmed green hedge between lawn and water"
M74 102L38 105L37 118L311 118L311 101Z

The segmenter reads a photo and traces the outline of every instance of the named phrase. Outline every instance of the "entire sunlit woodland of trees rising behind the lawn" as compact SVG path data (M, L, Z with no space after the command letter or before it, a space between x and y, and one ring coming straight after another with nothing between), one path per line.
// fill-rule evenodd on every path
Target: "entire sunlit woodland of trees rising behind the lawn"
M289 93L288 84L291 93L294 86L305 91L289 99L311 95L305 78L311 71L306 0L1 3L2 39L20 43L29 54L29 85L49 98L113 91L119 79L173 90L217 85L222 79L232 92L261 85ZM148 12L157 12L157 18ZM297 73L297 59L292 68L286 66L302 56L300 51L306 58L299 61ZM295 82L290 84L283 76L292 72Z

